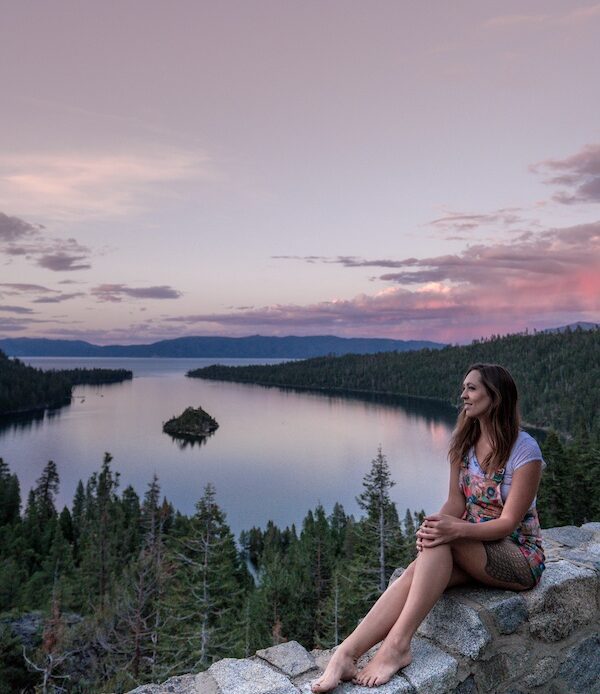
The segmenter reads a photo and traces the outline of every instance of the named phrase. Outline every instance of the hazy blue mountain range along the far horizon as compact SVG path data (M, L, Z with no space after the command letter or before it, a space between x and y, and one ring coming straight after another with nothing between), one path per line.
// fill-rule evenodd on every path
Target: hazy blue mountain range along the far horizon
M179 337L149 345L107 345L101 347L82 340L46 338L6 338L0 350L11 357L187 357L187 358L281 358L305 359L325 355L407 352L441 349L440 342L388 340L368 337L311 335L298 337Z

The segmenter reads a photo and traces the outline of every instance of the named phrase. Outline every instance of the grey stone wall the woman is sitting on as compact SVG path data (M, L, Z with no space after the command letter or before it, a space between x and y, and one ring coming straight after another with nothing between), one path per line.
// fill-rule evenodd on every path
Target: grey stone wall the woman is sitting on
M543 534L547 568L536 588L447 591L413 639L408 667L375 690L347 682L334 694L600 694L600 523ZM129 694L308 694L330 655L290 641Z

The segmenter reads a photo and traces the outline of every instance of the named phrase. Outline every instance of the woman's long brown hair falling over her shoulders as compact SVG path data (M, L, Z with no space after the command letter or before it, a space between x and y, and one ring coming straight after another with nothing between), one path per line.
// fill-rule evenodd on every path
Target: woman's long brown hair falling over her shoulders
M481 461L488 472L495 473L506 465L508 456L519 435L519 395L517 386L507 369L498 364L472 364L465 373L478 371L481 382L492 399L486 417L489 419L491 452ZM464 380L464 379L463 379ZM467 417L464 408L460 411L456 427L452 432L448 458L451 463L462 460L481 435L479 420Z

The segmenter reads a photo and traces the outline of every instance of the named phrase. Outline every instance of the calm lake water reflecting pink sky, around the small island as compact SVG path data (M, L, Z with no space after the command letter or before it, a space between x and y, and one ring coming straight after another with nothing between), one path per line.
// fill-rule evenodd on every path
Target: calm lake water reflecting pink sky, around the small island
M309 508L336 501L359 515L356 495L382 446L396 485L392 499L433 512L445 500L446 450L455 413L418 400L358 399L185 376L211 359L24 358L38 368L125 368L132 381L78 386L71 405L37 419L4 423L0 457L16 472L25 501L44 465L60 474L59 508L71 501L78 480L99 469L105 451L143 496L154 472L163 494L191 514L211 482L237 535L268 520L299 525ZM221 359L224 364L280 360ZM219 429L202 445L182 446L162 424L186 407L202 406Z

